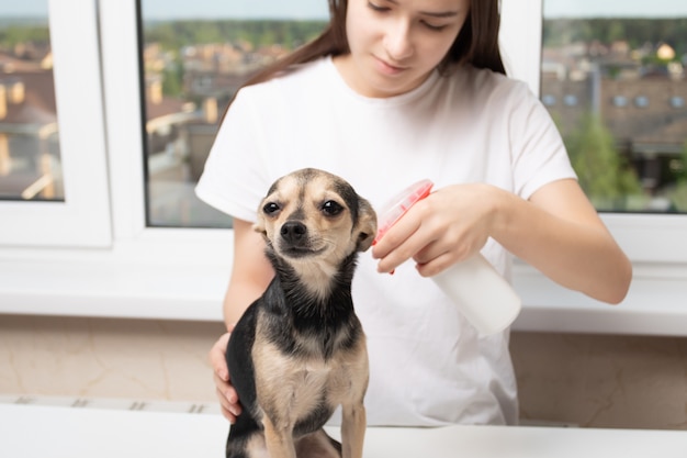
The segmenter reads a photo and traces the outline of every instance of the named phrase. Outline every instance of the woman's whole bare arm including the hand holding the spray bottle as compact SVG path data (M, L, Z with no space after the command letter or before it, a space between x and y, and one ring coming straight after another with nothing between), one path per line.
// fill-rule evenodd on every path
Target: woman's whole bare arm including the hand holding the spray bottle
M477 253L493 237L558 283L618 303L632 266L578 183L545 185L528 200L488 185L439 189L416 203L372 252L379 270L413 258L431 277Z

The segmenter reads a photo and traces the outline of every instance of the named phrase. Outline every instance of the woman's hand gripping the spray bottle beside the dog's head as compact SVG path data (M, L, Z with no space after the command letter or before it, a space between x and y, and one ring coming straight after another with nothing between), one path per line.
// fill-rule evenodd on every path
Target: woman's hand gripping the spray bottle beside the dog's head
M379 241L372 256L380 272L408 259L424 277L476 254L491 235L495 199L504 191L488 185L454 185L417 202Z

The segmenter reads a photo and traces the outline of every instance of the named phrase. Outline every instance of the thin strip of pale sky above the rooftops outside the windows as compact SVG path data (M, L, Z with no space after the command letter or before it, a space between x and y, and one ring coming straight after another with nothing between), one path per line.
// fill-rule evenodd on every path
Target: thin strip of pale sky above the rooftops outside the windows
M143 0L143 9L146 19L327 18L326 0ZM0 18L46 11L47 0L0 0ZM544 15L687 18L687 0L544 0Z

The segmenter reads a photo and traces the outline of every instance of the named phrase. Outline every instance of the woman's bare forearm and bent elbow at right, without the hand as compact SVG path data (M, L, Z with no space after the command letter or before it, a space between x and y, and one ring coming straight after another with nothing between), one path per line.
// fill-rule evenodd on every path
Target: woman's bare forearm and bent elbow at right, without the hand
M621 302L632 265L572 179L554 181L525 201L507 193L494 225L510 253L547 277L594 299Z

